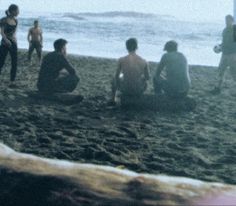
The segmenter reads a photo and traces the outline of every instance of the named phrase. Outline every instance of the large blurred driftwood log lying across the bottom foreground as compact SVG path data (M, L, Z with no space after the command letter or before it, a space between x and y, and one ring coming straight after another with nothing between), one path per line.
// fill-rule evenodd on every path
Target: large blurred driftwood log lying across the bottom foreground
M236 203L236 186L45 159L3 144L0 191L1 206Z

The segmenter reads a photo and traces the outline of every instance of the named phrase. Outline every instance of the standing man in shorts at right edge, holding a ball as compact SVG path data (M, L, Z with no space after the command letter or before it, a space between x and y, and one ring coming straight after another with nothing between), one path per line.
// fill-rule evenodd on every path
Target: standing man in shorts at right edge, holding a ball
M236 81L236 42L234 40L234 17L227 15L225 17L226 27L222 33L221 51L222 56L218 67L219 80L217 86L211 91L213 94L220 94L224 74L227 68L230 69L230 74Z

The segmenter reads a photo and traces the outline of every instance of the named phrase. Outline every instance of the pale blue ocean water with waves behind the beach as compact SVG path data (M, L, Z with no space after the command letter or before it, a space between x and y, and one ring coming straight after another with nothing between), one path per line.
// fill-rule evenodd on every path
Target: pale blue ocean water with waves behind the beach
M4 12L0 11L3 16ZM68 40L68 53L119 58L126 54L125 41L136 37L138 54L159 61L163 46L176 40L190 64L214 65L220 55L213 46L221 42L224 18L199 20L145 12L21 12L17 32L20 48L28 48L27 33L35 18L43 30L44 50L53 50L57 38Z

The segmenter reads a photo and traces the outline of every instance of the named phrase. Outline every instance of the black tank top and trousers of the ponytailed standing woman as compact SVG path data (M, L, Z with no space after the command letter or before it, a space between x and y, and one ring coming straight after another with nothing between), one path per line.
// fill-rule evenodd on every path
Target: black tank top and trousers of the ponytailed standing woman
M0 45L0 73L2 67L5 63L6 57L8 52L11 56L11 81L14 81L16 78L16 71L17 71L17 44L14 40L14 35L17 28L17 20L16 25L10 25L7 23L7 17L4 17L0 20L0 27L3 29L7 39L11 42L11 45L7 45L4 39L1 41Z

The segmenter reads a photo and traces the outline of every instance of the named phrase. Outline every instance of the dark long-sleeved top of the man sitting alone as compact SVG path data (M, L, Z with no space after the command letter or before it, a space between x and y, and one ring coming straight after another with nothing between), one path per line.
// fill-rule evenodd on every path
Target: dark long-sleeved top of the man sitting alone
M52 84L60 75L60 71L66 69L69 74L75 74L75 69L71 66L65 56L59 52L50 52L43 58L39 71L38 86L45 87Z

